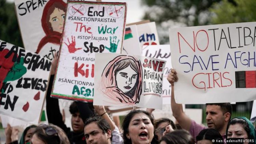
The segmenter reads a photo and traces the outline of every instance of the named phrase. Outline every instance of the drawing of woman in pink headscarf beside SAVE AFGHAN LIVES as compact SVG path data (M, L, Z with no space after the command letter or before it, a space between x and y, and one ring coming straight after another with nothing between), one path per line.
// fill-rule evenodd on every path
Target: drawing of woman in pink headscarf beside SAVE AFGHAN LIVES
M139 103L142 92L140 61L132 56L117 56L104 68L101 82L103 93L112 101Z

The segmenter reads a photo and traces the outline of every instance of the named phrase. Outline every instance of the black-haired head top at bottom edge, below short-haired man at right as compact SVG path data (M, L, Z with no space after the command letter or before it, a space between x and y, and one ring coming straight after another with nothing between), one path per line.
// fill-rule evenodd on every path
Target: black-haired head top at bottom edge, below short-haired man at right
M201 130L196 137L196 141L201 141L201 140L210 140L211 142L212 140L215 140L215 142L212 142L213 144L224 144L221 134L219 134L219 132L215 129ZM219 141L216 142L216 140L219 140Z

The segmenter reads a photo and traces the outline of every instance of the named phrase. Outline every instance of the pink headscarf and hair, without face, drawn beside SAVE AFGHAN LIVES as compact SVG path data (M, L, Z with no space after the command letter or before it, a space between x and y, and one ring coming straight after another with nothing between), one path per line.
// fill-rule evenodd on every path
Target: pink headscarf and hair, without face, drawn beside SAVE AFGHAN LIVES
M136 85L130 90L132 91L132 96L130 97L121 91L116 84L116 73L128 66L138 73ZM142 92L142 68L140 61L132 56L117 56L104 68L101 82L102 91L109 97L109 99L124 104L139 103Z

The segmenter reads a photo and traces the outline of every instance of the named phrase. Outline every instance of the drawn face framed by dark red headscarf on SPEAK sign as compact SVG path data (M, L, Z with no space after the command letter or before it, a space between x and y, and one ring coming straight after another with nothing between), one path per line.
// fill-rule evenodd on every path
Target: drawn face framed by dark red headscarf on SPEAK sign
M52 25L53 31L62 33L63 24L65 19L65 12L55 8L53 13L50 15L49 22Z

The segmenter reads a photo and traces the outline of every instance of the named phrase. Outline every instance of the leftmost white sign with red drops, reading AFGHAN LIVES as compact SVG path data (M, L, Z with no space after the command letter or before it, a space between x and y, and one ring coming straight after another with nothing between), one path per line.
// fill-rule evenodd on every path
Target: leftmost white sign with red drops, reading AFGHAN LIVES
M51 62L24 48L0 43L0 112L37 124Z

